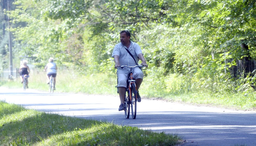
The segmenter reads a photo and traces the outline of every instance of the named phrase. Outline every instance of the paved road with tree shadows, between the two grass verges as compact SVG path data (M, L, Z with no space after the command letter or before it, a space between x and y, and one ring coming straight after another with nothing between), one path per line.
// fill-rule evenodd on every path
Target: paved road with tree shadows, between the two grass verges
M49 113L178 134L186 140L183 146L256 146L256 112L253 111L233 111L142 98L134 120L125 119L124 112L118 111L118 95L47 93L0 87L0 100Z

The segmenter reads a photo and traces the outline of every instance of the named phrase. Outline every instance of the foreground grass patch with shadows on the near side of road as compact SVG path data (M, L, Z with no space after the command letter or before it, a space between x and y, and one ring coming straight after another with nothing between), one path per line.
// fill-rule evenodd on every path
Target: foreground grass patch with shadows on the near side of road
M47 114L0 102L0 145L176 145L177 135Z

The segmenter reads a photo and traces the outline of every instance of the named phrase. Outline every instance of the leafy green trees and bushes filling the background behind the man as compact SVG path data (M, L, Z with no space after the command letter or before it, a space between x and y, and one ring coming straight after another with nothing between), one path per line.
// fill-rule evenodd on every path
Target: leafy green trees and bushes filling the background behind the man
M155 89L150 96L222 90L236 94L246 90L243 85L255 87L254 73L245 72L245 80L230 74L236 59L256 59L253 0L17 0L14 4L16 9L7 14L15 24L15 54L33 57L39 67L54 57L58 66L86 75L115 76L111 54L120 30L126 29L149 64L145 75L159 80L149 80L148 89ZM185 81L171 85L165 81L169 77Z

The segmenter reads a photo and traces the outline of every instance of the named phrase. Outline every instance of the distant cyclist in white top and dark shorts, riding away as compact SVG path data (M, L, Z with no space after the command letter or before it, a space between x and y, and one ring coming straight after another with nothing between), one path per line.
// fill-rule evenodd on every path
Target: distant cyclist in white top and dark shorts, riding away
M44 70L43 71L47 71L47 77L48 77L48 83L47 84L49 84L50 82L50 76L52 76L53 77L53 80L54 80L54 84L53 84L53 86L54 86L54 90L55 90L55 84L56 84L56 75L57 75L57 65L56 65L56 63L54 63L53 62L53 58L51 57L51 58L49 58L49 63L47 63L46 64L46 66L45 66L45 68L44 68Z

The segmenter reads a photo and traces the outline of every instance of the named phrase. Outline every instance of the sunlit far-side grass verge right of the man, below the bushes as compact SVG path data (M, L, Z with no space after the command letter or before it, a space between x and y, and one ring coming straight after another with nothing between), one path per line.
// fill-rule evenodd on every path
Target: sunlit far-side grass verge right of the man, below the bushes
M189 81L184 78L170 75L164 78L145 78L141 93L148 98L160 98L174 102L188 104L202 104L215 107L223 107L236 110L256 110L256 91L249 88L245 91L229 91L225 87L216 85L191 87ZM221 83L219 83L221 84ZM215 91L214 91L215 90Z

